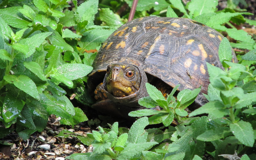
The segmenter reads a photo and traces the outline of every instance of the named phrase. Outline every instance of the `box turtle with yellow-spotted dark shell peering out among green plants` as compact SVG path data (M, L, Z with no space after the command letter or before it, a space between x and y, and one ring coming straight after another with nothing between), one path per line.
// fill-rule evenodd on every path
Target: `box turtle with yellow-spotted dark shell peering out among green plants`
M92 64L88 87L98 100L92 107L110 114L127 115L140 108L148 96L145 83L164 96L178 90L201 87L196 104L207 102L209 75L206 62L223 69L218 49L223 36L187 18L142 17L111 34ZM237 62L232 50L233 62ZM96 88L96 89L95 89Z

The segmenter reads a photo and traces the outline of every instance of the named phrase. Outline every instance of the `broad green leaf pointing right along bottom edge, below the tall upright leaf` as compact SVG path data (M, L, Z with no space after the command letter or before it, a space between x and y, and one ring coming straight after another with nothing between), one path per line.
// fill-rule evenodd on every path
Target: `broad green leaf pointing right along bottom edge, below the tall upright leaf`
M117 156L117 159L127 160L133 157L140 157L142 154L141 151L148 150L156 144L157 142L129 143Z

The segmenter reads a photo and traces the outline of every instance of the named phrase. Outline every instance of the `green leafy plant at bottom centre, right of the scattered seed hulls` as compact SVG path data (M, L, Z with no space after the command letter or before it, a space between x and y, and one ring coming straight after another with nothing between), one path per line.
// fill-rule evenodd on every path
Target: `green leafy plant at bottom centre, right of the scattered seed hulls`
M135 121L128 133L118 132L118 123L114 123L109 132L105 132L99 126L100 131L87 133L87 137L92 137L93 152L85 154L73 154L67 159L137 159L146 151L157 144L157 142L147 142L148 132L144 128L148 125L148 118L143 117ZM63 135L64 132L58 136ZM67 131L65 131L67 133ZM70 133L69 133L70 134Z

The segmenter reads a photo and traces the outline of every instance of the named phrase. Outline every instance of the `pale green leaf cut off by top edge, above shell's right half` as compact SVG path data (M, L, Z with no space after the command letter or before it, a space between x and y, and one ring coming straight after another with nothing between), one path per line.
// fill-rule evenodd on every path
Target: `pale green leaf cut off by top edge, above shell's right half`
M204 13L214 12L217 10L218 1L215 0L191 0L188 5L189 15L198 16Z

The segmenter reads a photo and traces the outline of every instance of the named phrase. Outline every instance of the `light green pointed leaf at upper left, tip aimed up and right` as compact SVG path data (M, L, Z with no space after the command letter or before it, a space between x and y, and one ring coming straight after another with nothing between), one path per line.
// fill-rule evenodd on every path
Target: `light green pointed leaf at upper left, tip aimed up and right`
M44 32L44 33L38 33L29 38L21 39L19 43L28 45L28 49L29 49L29 51L24 56L24 58L28 58L29 56L31 56L36 51L36 47L41 45L44 42L44 39L51 34L52 32Z

